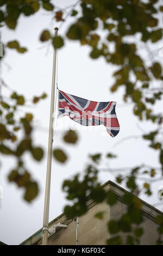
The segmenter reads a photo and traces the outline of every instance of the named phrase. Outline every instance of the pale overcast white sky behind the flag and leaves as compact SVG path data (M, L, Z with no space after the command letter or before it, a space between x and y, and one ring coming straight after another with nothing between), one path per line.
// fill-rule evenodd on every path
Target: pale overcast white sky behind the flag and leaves
M76 1L54 1L60 7L75 3ZM70 17L62 26L59 34L64 35L73 19ZM4 63L1 66L1 75L5 82L18 93L26 95L31 99L33 95L41 95L46 92L50 95L52 80L52 61L53 48L48 44L39 42L40 32L49 28L59 26L51 15L46 11L39 11L34 16L24 18L18 23L16 31L2 28L2 39L4 42L18 39L21 46L27 46L29 51L24 54L18 54L15 50L8 50L4 57ZM161 42L159 42L160 44ZM44 46L45 47L42 47ZM155 48L156 46L154 46ZM127 136L141 136L142 131L154 130L150 122L139 122L134 117L133 105L124 105L122 101L123 89L117 93L111 94L109 87L112 82L113 68L107 64L103 58L92 60L89 57L90 48L80 46L79 42L66 40L66 44L58 52L58 86L67 93L84 97L93 101L117 101L116 113L120 123L120 133L117 137L111 138L105 131L105 127L84 127L74 123L68 117L58 120L57 131L54 137L53 148L64 148L67 155L70 156L66 164L52 161L52 179L51 179L51 205L49 210L49 221L61 214L66 200L65 194L61 191L62 181L71 178L78 171L82 172L86 163L89 162L89 154L112 152L118 155L118 158L106 162L103 167L112 168L135 167L141 163L153 166L158 164L158 152L147 148L148 142L142 139L130 139L114 145ZM143 52L143 57L147 55ZM159 59L160 60L160 59ZM8 65L10 68L8 68ZM7 91L4 90L7 94ZM45 194L47 147L48 147L48 124L49 124L50 97L42 100L32 108L20 107L20 115L24 111L32 112L35 115L36 128L34 131L35 145L41 145L45 150L45 156L41 162L32 160L32 157L26 154L26 166L32 176L39 182L39 196L31 203L22 199L23 190L18 189L15 184L9 184L7 176L9 171L15 166L15 160L8 156L1 155L0 185L3 186L3 199L0 205L0 241L9 245L17 245L42 227L43 222L43 204ZM156 108L159 109L161 103ZM63 143L64 125L76 127L78 130L79 141L76 145ZM139 124L139 126L138 126ZM62 129L62 130L61 130ZM10 160L10 161L9 161ZM109 164L109 165L108 165ZM114 175L108 172L101 173L102 183L108 180L115 181ZM142 199L148 203L158 202L158 187L163 182L153 186L154 194L152 197ZM160 207L159 209L162 209Z

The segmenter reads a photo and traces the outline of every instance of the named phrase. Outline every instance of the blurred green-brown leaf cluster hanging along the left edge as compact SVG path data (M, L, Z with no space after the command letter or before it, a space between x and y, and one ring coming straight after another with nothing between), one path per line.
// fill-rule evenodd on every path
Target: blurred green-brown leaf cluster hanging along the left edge
M1 80L0 83L3 86L4 81ZM45 99L46 94L34 98ZM8 179L24 188L24 199L30 202L39 193L39 186L26 169L23 157L29 152L35 161L43 159L43 149L35 147L33 142L33 114L27 112L19 117L18 111L26 105L26 98L14 91L9 99L1 95L0 104L0 153L16 158L17 166L11 170Z

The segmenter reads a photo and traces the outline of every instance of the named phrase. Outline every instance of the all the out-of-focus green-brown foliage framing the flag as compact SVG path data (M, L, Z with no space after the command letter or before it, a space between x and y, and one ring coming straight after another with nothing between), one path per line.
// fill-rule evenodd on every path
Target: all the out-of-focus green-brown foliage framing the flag
M70 13L73 23L68 28L65 38L60 35L54 37L49 29L44 29L40 33L40 41L51 42L53 47L64 46L66 38L79 41L81 46L90 47L90 58L104 58L106 63L115 65L114 83L110 90L116 92L118 88L124 88L124 102L133 103L133 114L139 120L151 121L154 124L154 131L144 134L142 138L149 142L149 147L158 150L160 169L149 166L137 166L130 169L128 175L116 175L117 183L125 182L128 190L133 193L125 193L122 200L127 204L127 211L119 219L110 220L108 231L111 238L108 245L138 245L140 237L143 235L141 223L143 215L141 202L136 196L143 191L151 196L151 180L145 180L140 188L137 185L139 175L149 175L153 179L158 172L163 174L163 148L160 140L162 128L162 113L155 113L155 104L162 99L162 65L158 59L148 51L147 44L155 44L162 39L162 28L159 26L159 17L163 7L158 0L81 0L81 11L76 10L73 5ZM21 16L30 17L39 10L52 14L56 22L65 22L67 18L66 9L55 7L51 0L0 0L0 26L6 26L12 31L16 29ZM101 33L103 31L104 33ZM140 40L135 40L139 35ZM127 40L130 39L130 40ZM132 40L131 40L132 39ZM142 58L139 51L139 42L144 45L149 54L150 62ZM26 47L22 47L15 38L12 41L3 43L4 54L10 49L15 49L18 53L27 52ZM0 58L2 61L3 58ZM154 87L153 83L157 86ZM1 79L0 86L5 85ZM32 201L39 192L38 185L23 162L23 155L29 152L35 161L41 161L43 150L35 147L33 143L33 114L26 113L24 117L17 118L17 109L26 105L24 95L12 92L10 99L0 95L0 152L3 155L14 156L17 159L17 166L11 170L9 181L15 182L18 187L24 188L24 199ZM34 96L33 103L45 99L46 94ZM12 103L11 103L12 102ZM74 131L68 131L63 140L74 145L78 136ZM68 156L62 149L53 150L54 158L60 163L65 163ZM107 160L114 159L116 155L108 153ZM90 155L92 164L86 170L83 178L77 174L72 180L65 180L63 190L67 193L67 199L73 205L65 206L65 214L69 218L80 216L87 211L87 200L103 202L109 205L117 203L117 196L112 191L106 193L98 182L98 169L96 164L102 160L102 154ZM95 165L95 166L94 166ZM96 216L102 219L105 212L97 212ZM156 217L158 223L157 244L161 245L161 235L163 234L163 217ZM123 241L120 233L126 234L126 241Z

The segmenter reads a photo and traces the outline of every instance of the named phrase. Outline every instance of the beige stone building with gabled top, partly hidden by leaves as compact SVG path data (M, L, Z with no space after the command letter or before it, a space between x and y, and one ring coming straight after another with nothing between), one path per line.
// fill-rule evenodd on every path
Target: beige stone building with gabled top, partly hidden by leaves
M87 202L88 211L83 216L74 220L67 220L64 214L59 215L49 223L48 245L105 245L111 236L108 232L107 223L110 219L118 219L126 212L127 205L122 203L122 196L126 192L124 188L112 181L106 182L105 191L112 191L117 196L117 203L109 206L106 203ZM141 245L155 245L158 238L155 217L162 214L152 205L141 200L144 230L140 239ZM102 220L95 217L99 211L104 211ZM21 245L41 245L42 229L30 236Z

